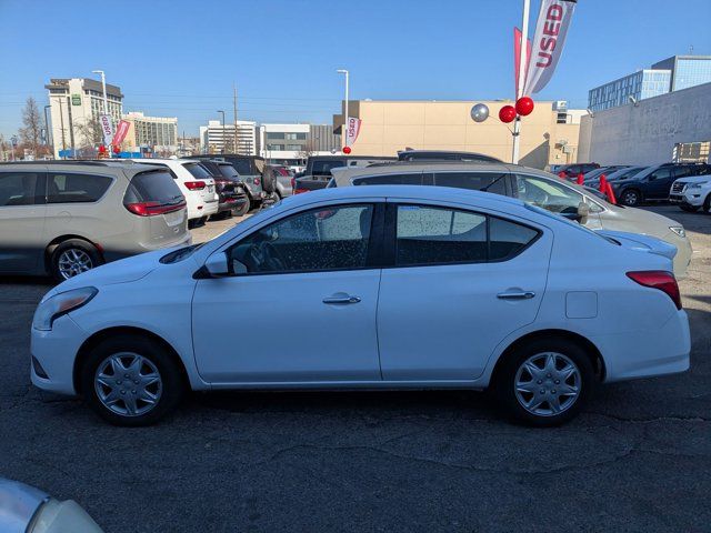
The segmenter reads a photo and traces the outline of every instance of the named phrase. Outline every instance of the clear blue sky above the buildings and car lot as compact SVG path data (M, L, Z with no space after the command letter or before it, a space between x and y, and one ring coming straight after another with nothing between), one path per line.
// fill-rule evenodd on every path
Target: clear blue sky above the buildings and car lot
M49 78L91 77L124 111L178 117L197 134L216 110L262 122L330 122L353 99L512 98L520 0L0 0L0 133ZM539 0L533 0L531 29ZM350 31L343 39L343 23ZM558 71L537 95L584 108L588 90L667 57L711 54L711 0L580 0Z

